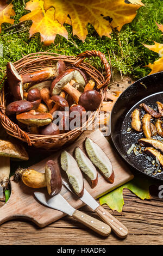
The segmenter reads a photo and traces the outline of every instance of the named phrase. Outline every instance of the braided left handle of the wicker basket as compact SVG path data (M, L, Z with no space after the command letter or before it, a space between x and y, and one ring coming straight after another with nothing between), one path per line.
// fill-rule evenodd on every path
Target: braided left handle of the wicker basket
M7 131L7 133L11 136L13 136L13 134L10 134L10 131L7 129L7 127L5 127L5 124L8 124L16 133L18 133L18 135L20 137L22 137L22 139L24 141L27 141L29 146L32 146L32 143L30 141L29 136L27 135L26 132L22 131L20 129L20 127L18 127L18 125L14 124L8 117L7 115L5 115L4 113L2 113L2 109L3 106L0 106L0 119L1 119L1 124L3 125L3 127L5 128L5 130ZM15 136L16 137L16 136Z

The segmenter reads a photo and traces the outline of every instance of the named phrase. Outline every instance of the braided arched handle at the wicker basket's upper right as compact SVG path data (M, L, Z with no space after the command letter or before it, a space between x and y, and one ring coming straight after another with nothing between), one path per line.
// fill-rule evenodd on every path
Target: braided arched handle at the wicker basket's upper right
M101 59L101 62L103 63L104 67L105 67L105 81L104 83L100 84L97 86L97 89L100 89L102 87L106 87L108 86L108 84L110 83L110 78L111 78L111 71L110 71L110 65L108 63L108 60L105 57L105 54L100 52L100 51L96 51L96 50L92 50L92 51L85 51L83 53L80 53L77 56L77 60L74 63L75 66L79 66L85 58L90 58L90 57L99 57Z

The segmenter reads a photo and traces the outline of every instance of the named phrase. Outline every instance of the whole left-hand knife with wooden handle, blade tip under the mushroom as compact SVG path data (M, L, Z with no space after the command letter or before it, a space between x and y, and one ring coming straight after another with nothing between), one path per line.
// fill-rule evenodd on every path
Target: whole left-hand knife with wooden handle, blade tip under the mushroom
M74 209L61 194L57 194L53 197L49 196L48 193L44 192L34 192L35 197L43 205L48 206L49 208L65 212L75 218L77 221L86 225L96 233L102 236L108 236L111 232L109 225L105 224L102 221L98 221L96 218L93 218L81 211Z

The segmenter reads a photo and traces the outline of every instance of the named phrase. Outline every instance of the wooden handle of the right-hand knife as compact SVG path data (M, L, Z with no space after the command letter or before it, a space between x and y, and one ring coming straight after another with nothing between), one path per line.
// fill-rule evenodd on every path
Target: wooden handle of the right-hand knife
M114 216L109 214L101 205L99 205L96 210L96 214L108 225L110 225L112 231L121 238L125 238L128 234L128 229L118 221Z

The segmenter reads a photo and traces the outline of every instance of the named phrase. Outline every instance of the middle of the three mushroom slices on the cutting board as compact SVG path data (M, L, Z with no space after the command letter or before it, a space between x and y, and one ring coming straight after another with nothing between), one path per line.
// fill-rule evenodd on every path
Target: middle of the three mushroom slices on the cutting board
M85 155L85 153L77 147L75 149L75 157L80 170L85 174L87 181L90 183L91 187L95 187L98 182L98 174L95 166L93 166L90 159Z

